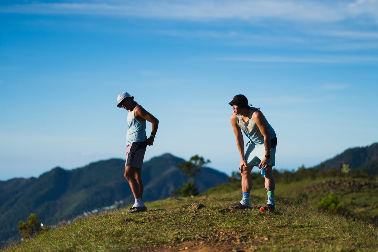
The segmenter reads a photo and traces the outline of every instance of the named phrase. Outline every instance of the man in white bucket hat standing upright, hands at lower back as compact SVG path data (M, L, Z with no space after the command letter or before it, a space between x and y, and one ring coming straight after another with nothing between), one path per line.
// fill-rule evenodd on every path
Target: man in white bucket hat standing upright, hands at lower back
M131 191L134 194L135 203L129 211L125 213L138 213L147 210L142 202L143 182L141 170L143 165L144 153L147 145L152 146L156 137L159 120L147 112L142 106L134 101L134 96L127 92L122 92L117 97L117 107L129 110L127 114L127 133L126 133L126 163L125 178L129 182ZM152 124L151 136L146 136L146 121Z

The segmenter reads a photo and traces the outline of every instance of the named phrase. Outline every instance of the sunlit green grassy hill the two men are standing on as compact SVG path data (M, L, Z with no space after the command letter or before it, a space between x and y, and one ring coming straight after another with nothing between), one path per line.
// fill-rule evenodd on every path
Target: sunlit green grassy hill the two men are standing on
M377 251L376 178L283 178L276 180L274 213L258 210L266 191L255 176L252 210L227 210L241 199L240 182L222 184L195 198L147 202L144 213L125 215L124 208L88 216L5 251ZM317 208L331 192L342 204L339 213Z

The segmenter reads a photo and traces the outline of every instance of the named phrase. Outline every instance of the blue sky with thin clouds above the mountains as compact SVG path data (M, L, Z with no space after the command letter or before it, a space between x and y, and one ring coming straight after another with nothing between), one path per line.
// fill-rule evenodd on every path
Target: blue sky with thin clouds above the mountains
M124 158L124 91L160 121L145 160L237 171L240 93L275 129L278 169L371 145L377 28L377 0L3 0L0 180Z

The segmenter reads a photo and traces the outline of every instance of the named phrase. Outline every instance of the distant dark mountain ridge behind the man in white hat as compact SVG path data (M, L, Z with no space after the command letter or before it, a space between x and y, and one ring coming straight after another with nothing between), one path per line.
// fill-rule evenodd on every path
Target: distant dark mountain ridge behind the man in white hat
M187 182L177 168L181 161L163 154L143 163L144 202L168 198L170 191ZM45 225L53 225L115 201L133 202L124 166L123 159L109 159L74 170L56 167L38 178L0 181L0 240L17 236L18 222L25 221L31 213ZM202 192L226 181L225 173L205 167L196 177L196 186Z

